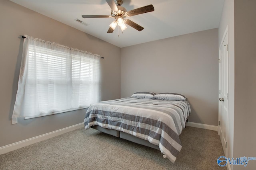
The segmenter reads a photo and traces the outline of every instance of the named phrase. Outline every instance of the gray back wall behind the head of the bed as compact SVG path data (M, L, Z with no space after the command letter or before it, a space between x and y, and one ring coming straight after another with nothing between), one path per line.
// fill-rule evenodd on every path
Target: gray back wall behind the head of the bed
M134 92L184 94L189 121L218 123L218 28L121 49L121 97Z

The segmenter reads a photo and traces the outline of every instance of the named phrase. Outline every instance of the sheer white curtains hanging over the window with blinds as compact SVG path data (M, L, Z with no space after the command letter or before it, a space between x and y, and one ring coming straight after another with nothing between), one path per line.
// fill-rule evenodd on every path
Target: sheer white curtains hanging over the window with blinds
M36 117L100 101L100 56L25 35L12 117Z

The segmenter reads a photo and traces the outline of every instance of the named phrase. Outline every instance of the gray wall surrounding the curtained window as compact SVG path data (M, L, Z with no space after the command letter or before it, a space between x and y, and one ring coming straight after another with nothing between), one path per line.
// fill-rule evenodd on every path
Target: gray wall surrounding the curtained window
M52 20L9 0L0 0L0 147L82 123L86 109L38 117L18 118L11 125L18 88L21 35L60 43L101 55L102 100L120 98L120 48L96 37Z

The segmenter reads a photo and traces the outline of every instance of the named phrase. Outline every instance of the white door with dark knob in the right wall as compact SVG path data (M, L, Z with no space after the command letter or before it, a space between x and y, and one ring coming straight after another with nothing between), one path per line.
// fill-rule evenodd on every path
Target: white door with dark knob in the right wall
M219 57L219 135L226 156L228 131L228 32L220 45Z

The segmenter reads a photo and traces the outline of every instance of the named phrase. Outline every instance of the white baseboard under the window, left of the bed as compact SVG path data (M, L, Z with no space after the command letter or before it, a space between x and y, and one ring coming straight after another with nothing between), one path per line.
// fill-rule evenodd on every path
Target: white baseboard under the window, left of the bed
M43 134L43 135L32 137L30 139L25 139L23 141L19 141L19 142L16 142L16 143L12 143L10 145L3 146L3 147L0 147L0 154L4 154L4 153L10 152L10 151L15 150L15 149L20 149L22 147L26 147L28 145L31 145L31 144L34 144L34 143L37 143L37 142L40 142L40 141L43 141L43 140L46 140L46 139L49 139L49 138L52 138L52 137L56 137L56 136L61 135L63 133L74 131L74 130L79 129L81 127L84 127L84 123L79 123L79 124L72 125L72 126L69 126L69 127L65 127L63 129L59 129L59 130L56 130L56 131L53 131L53 132L50 132L50 133L46 133L46 134Z

